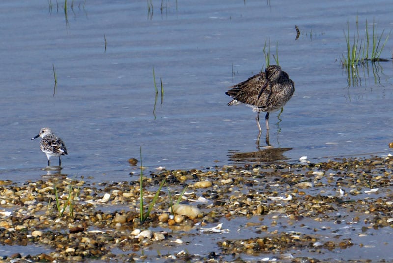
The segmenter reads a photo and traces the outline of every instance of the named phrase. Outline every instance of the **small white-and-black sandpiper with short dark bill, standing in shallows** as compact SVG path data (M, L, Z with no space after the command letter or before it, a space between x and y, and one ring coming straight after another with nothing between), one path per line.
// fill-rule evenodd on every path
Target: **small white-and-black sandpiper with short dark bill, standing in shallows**
M67 148L61 138L57 137L54 133L52 133L50 128L42 128L40 133L37 136L31 138L34 140L35 138L41 137L40 149L43 153L46 154L48 158L48 166L49 159L52 156L58 156L58 165L61 166L61 155L67 155Z

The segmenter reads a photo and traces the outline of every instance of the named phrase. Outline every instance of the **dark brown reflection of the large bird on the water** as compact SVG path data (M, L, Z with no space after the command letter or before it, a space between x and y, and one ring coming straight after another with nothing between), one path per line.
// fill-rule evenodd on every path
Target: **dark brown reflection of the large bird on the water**
M283 161L288 158L283 155L284 152L291 150L292 148L273 148L272 146L266 146L255 152L238 152L228 151L228 159L231 162L275 162Z

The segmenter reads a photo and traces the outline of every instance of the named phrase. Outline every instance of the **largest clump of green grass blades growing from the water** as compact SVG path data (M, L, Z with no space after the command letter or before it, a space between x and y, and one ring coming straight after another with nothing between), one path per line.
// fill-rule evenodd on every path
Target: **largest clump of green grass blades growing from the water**
M349 21L347 22L347 32L344 30L345 42L347 45L346 56L342 54L341 63L343 67L348 70L350 67L356 67L358 65L363 65L367 61L387 61L386 59L381 59L381 53L389 39L390 33L386 36L383 41L385 29L382 30L381 34L377 33L377 28L375 24L375 19L372 26L372 36L370 37L368 33L368 22L365 22L365 35L363 39L360 36L358 22L356 21L356 32L354 33L353 39L351 41ZM370 43L371 38L371 43ZM370 46L371 45L371 46ZM371 56L370 53L371 47Z

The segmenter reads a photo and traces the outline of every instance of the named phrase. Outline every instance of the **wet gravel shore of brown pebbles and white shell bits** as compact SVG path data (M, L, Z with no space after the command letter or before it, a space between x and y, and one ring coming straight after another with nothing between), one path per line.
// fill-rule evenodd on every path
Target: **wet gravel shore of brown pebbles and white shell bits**
M22 250L0 255L1 261L365 262L351 255L351 249L367 247L356 238L371 230L383 235L393 228L392 156L143 174L145 208L163 179L168 186L161 189L143 224L139 181L89 183L61 176L18 184L0 181L3 248L37 246L37 254ZM59 216L54 183L62 205L69 202L69 185L73 185L72 215L67 207ZM199 209L196 217L168 210L168 192L176 200L186 186L181 203ZM251 222L252 218L259 221ZM230 226L236 220L243 220L252 237L237 238L231 230L231 238L225 235L216 240L225 230L208 228L223 222ZM347 225L356 231L322 237L321 223ZM310 224L313 227L305 231ZM216 234L214 238L206 234L209 231ZM200 253L181 249L189 246L193 251L192 244L182 240L187 235L210 242L208 249ZM176 252L151 252L160 247ZM350 255L331 258L329 252L338 250ZM375 259L370 255L369 260Z

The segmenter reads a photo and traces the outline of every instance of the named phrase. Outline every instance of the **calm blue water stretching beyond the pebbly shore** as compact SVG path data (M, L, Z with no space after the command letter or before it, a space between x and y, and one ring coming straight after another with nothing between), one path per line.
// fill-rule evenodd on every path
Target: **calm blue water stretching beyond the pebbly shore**
M340 64L347 22L351 35L356 19L362 36L366 19L389 32L390 1L166 0L151 13L145 1L75 0L67 16L52 4L0 2L2 180L51 173L30 140L44 126L67 145L61 173L96 182L135 179L127 160L140 159L140 147L150 169L391 152L392 60L360 67L355 83ZM278 43L295 94L271 114L275 149L260 153L255 113L227 107L225 91L264 66L266 40L273 54ZM381 58L391 50L389 39ZM164 88L156 106L153 67Z

